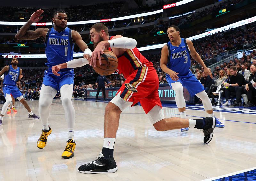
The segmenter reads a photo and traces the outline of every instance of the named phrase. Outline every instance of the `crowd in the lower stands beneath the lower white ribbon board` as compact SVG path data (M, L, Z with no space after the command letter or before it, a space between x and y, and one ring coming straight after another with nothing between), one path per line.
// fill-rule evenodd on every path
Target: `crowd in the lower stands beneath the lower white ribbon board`
M249 26L247 29L230 29L225 32L218 32L214 35L209 35L205 38L193 41L195 49L200 54L201 58L203 59L204 63L209 66L212 63L216 62L216 57L226 54L228 56L228 51L236 49L247 49L251 47L253 42L255 41L255 27ZM143 52L142 52L143 53ZM159 76L159 83L167 83L166 82L166 75L160 68L160 53L152 54L149 53L145 55L145 57L153 63L154 68ZM34 62L33 66L42 66L44 62ZM37 65L36 65L37 64ZM26 67L32 66L31 63L22 62L19 66ZM215 71L213 72L214 79L212 83L205 84L207 86L206 91L212 100L215 100L213 97L212 92L217 90L217 87L222 82L220 81L219 77L222 80L222 75L220 71L223 69L228 77L228 72L232 69L233 66L237 68L237 74L241 74L244 76L244 79L250 81L250 76L252 75L251 65L256 66L256 49L254 49L250 54L246 55L245 52L241 59L234 58L233 60L229 60L220 64L220 66L215 67ZM253 67L253 66L252 66ZM45 67L46 69L47 67ZM205 75L203 74L203 68L193 59L191 59L191 71L193 74L197 74L198 80L202 82L205 79ZM27 100L35 100L39 98L40 94L40 86L43 80L43 69L28 69L23 70L23 79L21 81L20 91L22 92L23 96ZM225 76L226 76L225 75ZM74 98L76 97L84 97L86 96L86 92L88 90L97 89L97 85L95 84L95 80L98 74L90 67L86 65L84 67L76 68L75 69L75 89L74 89ZM107 76L109 82L105 84L105 88L112 88L112 87L121 87L124 83L124 77L118 74L112 74ZM205 79L206 80L206 79ZM256 81L256 80L255 80ZM232 83L231 83L232 84ZM213 86L215 85L215 86ZM246 85L246 84L245 84ZM245 86L244 85L244 86ZM223 86L223 85L222 85ZM249 85L248 85L249 87ZM251 87L251 85L250 85ZM210 90L210 91L209 91ZM224 89L225 90L225 89ZM239 89L241 90L241 88ZM2 91L2 90L0 90ZM247 91L247 90L246 90ZM243 92L243 91L241 91ZM249 91L247 91L249 92ZM243 93L247 93L243 92ZM59 94L59 93L58 93ZM253 92L254 94L254 92ZM232 94L230 94L232 95ZM237 95L237 94L236 94ZM60 94L56 97L60 97ZM226 96L230 98L230 96ZM238 98L239 99L239 98ZM1 100L3 100L3 93L1 93ZM215 101L212 102L213 104L216 103ZM240 101L237 102L239 104Z

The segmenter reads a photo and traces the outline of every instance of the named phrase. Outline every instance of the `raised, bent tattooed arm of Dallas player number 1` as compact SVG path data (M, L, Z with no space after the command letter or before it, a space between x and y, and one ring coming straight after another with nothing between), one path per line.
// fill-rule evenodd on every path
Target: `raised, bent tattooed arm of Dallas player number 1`
M15 37L18 40L35 40L37 38L45 38L48 28L38 28L35 31L28 31L29 27L32 25L32 23L34 22L38 22L40 21L43 16L40 17L40 15L43 13L44 11L39 9L36 12L34 12L30 19L28 20L28 22L23 25L20 30L18 31L18 33L15 35Z

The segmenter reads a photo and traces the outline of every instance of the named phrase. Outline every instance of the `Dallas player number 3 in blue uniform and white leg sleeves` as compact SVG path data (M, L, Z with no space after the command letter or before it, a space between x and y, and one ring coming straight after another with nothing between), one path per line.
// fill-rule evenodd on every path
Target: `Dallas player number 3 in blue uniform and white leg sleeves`
M186 87L190 95L196 95L203 102L206 112L214 117L212 104L204 91L203 85L190 71L190 55L203 68L206 75L212 78L212 72L205 66L203 60L196 52L193 43L180 37L179 27L172 25L167 29L170 41L164 45L161 51L160 66L167 73L166 80L170 87L176 92L175 102L181 118L186 118L186 103L183 96L183 87ZM216 119L216 127L224 127L224 124ZM182 128L181 132L188 128Z

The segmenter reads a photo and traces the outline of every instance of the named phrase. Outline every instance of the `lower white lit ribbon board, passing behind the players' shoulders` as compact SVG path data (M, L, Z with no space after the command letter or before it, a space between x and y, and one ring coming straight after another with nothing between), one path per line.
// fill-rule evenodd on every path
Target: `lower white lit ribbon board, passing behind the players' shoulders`
M228 29L231 29L231 28L240 27L240 26L243 26L243 25L246 25L246 24L250 24L250 23L255 22L255 21L256 21L256 16L248 18L248 19L245 19L245 20L242 20L242 21L238 21L236 23L232 23L232 24L224 26L224 27L216 28L216 29L213 29L211 31L204 32L202 34L189 37L187 39L189 39L191 41L192 40L196 40L196 39L203 38L205 36L217 33L218 31L225 31L225 30L228 30ZM158 44L158 45L152 45L152 46L145 46L145 47L140 47L138 49L139 49L139 51L152 50L152 49L156 49L156 48L162 48L165 44L166 43ZM46 58L46 55L45 54L36 54L36 55L29 55L29 54L28 55L19 55L19 54L18 55L0 55L0 58L14 58L14 57L16 57L16 58ZM83 53L74 53L73 57L83 57Z

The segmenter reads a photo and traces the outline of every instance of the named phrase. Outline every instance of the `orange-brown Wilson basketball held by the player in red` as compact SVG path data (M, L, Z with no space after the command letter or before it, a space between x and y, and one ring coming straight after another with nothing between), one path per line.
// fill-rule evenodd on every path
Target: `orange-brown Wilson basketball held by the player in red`
M96 67L92 67L95 70L95 72L97 72L100 75L110 75L116 71L116 68L118 66L118 59L113 51L104 50L104 54L100 55L101 65L97 57Z

